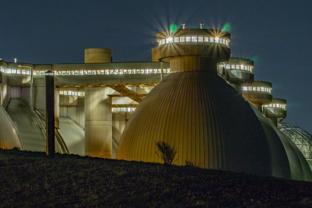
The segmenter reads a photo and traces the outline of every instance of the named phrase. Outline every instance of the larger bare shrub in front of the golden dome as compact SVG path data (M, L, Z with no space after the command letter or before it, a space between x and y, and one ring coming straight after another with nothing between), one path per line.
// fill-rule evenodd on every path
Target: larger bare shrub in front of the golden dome
M163 163L166 165L172 164L174 156L177 154L177 150L163 141L156 142L156 146L159 151L159 154L156 152L156 155L162 159Z

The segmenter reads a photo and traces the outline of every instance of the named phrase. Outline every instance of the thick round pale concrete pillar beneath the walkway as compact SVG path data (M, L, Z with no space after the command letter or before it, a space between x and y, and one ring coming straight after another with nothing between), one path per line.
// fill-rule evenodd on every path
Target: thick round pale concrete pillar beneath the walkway
M111 158L111 97L106 87L85 88L85 154Z

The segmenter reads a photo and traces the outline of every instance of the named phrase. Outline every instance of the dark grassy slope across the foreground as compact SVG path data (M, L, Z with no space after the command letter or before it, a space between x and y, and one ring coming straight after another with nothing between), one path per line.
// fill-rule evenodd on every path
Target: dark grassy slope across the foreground
M0 150L0 207L312 207L312 183Z

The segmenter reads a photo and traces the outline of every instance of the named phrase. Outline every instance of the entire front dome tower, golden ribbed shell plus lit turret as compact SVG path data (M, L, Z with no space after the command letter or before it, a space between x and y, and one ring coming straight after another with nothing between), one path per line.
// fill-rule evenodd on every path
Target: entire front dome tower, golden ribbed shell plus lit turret
M177 150L178 165L190 161L203 168L290 177L279 138L273 138L274 154L283 161L275 162L272 141L253 109L217 75L217 63L230 57L229 41L230 34L219 30L157 34L153 59L170 62L172 73L131 116L116 158L161 162L156 142L164 141Z

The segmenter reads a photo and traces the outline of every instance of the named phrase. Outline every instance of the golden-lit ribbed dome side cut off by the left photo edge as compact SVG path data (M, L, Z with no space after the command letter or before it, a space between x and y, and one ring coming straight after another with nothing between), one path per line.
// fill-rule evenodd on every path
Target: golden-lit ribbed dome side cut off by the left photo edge
M0 105L0 148L12 149L18 147L23 149L19 140L19 136L16 132L15 126L12 120L5 112L4 108Z

